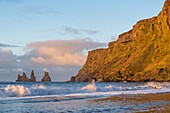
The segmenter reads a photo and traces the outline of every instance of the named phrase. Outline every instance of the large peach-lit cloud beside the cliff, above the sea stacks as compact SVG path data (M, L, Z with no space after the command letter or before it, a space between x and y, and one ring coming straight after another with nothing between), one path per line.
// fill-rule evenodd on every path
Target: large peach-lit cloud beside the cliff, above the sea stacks
M26 58L45 66L82 66L86 60L83 50L106 45L89 39L51 40L27 44Z

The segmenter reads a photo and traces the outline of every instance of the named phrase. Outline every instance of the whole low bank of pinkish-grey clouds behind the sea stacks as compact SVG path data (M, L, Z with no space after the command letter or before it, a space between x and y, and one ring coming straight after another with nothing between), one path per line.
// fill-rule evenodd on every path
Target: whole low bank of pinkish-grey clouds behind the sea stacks
M42 77L42 72L46 69L53 80L68 80L85 63L86 54L83 51L105 46L106 43L90 39L33 42L26 45L25 54L22 56L14 55L9 49L0 49L0 57L3 58L0 60L0 67L14 69L15 73L34 69L39 77ZM16 79L16 74L13 79Z

